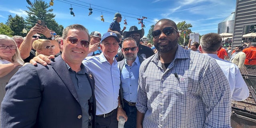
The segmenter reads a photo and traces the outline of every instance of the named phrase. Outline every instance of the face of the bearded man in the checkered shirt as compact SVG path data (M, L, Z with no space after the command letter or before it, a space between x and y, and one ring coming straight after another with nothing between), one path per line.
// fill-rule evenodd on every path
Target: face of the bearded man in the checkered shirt
M162 31L166 27L175 28L172 22L168 20L162 20L154 26L154 30ZM162 32L158 38L153 38L154 46L159 52L172 52L172 50L176 50L178 48L178 37L179 34L175 30L169 36Z

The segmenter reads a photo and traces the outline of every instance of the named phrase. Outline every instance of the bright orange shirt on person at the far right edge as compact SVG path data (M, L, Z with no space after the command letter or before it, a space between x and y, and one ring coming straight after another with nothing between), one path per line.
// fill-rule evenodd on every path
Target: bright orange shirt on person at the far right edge
M243 52L246 54L244 64L256 65L256 47L244 48Z

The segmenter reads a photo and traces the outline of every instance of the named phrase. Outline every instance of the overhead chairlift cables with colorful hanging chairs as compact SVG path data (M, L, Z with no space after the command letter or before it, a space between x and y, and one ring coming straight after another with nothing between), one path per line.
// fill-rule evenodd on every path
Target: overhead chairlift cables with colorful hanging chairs
M54 0L50 0L50 6L54 5L53 1ZM76 3L76 2L71 2L71 1L68 1L68 0L56 0L56 1L63 2L63 3L66 3L66 4L70 4L70 6L71 6L70 14L73 15L73 16L75 16L75 15L74 15L74 12L73 12L72 5L73 5L73 7L74 6L78 6L80 8L86 8L86 9L88 8L88 10L89 10L88 16L92 15L92 10L97 11L97 12L101 12L101 16L100 16L101 19L100 20L102 22L104 22L104 18L103 18L103 14L102 13L105 13L105 14L115 14L115 12L120 12L120 13L122 13L122 16L124 16L124 25L127 25L126 17L134 18L134 19L138 20L138 24L141 24L142 28L145 28L144 21L150 22L152 24L156 23L155 20L147 18L147 17L144 17L144 16L140 16L140 15L137 15L137 14L131 14L131 13L127 13L127 12L121 12L121 11L113 10L113 9L110 9L110 8L105 8L105 7L102 7L102 6L97 6L97 5L94 5L94 4L87 3L87 2L83 2L83 1L80 1L80 0L75 0L75 1L81 2L81 3L84 3L84 4L88 4L88 6L83 5L83 4L79 4L79 3ZM98 8L94 8L92 6L95 6L95 7L98 7ZM100 9L100 8L103 8L103 9ZM111 11L108 11L108 10L115 11L115 12L111 12ZM140 16L140 18L137 18L137 17L134 17L134 16L129 16L129 15L126 15L126 14L134 15L134 16ZM143 19L150 19L150 20L153 20L154 22L151 22L149 20L143 20Z

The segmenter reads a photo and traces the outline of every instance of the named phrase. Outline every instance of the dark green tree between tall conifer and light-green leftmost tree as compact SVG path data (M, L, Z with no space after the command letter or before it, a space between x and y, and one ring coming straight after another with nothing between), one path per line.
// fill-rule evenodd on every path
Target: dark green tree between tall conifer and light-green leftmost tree
M26 23L23 17L16 15L14 18L10 15L7 20L8 26L14 32L13 35L26 36L26 33L23 33L22 30L26 28Z

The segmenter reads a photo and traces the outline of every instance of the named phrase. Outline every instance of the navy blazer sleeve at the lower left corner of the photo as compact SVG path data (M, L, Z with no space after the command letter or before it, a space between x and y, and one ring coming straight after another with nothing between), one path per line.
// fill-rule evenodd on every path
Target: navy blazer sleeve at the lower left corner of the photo
M41 101L40 80L32 64L20 68L6 85L1 128L33 128Z

